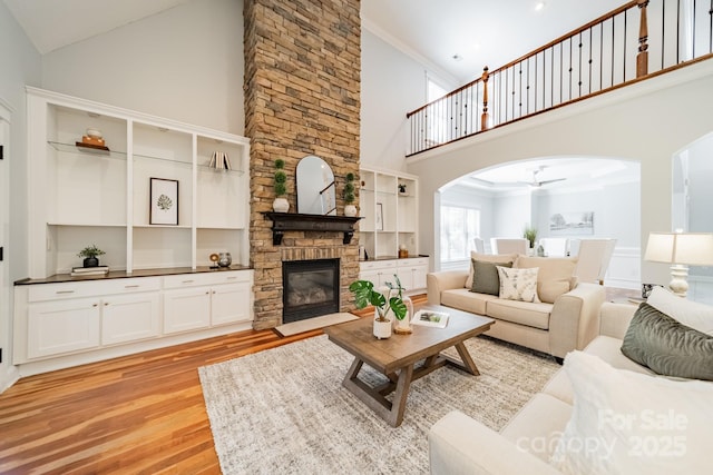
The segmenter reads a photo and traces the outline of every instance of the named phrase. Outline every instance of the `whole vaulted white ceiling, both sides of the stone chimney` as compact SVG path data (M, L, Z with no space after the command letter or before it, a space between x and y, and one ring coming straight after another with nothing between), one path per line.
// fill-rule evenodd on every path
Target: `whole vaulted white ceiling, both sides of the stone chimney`
M3 1L45 55L196 0ZM438 69L445 79L465 83L479 77L484 66L504 66L623 3L624 0L361 0L361 10L365 28Z

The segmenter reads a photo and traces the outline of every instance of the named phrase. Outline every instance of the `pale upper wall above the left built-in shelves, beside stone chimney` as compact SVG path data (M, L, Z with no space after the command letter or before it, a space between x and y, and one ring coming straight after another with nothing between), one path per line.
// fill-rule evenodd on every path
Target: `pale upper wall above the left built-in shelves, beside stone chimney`
M237 135L243 75L242 0L193 0L42 58L45 89Z

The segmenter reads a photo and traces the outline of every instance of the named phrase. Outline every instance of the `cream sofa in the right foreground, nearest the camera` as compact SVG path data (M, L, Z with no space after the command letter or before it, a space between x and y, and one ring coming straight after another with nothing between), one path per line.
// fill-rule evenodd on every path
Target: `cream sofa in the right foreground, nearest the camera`
M629 459L628 462L634 465L624 469L621 466L613 466L616 459L614 455L609 455L602 457L604 463L609 464L607 467L584 465L574 471L569 467L567 472L646 473L648 475L652 473L710 473L707 452L713 409L707 403L713 400L713 383L651 377L654 375L653 372L624 356L621 350L623 338L636 308L634 305L612 303L605 303L602 306L599 336L583 353L584 356L596 356L597 358L592 359L600 362L599 365L607 366L611 372L616 373L618 379L614 379L609 374L607 379L611 383L599 383L587 393L592 394L592 399L597 402L596 409L599 412L599 419L598 426L593 431L595 436L589 439L579 436L579 441L587 444L588 442L597 442L596 437L606 437L611 439L608 441L611 444L616 443L618 447L628 451L636 451L636 442L638 441L643 444L638 446L638 449L651 451L651 443L656 443L656 448L660 451L643 454L638 459ZM583 353L577 356L583 356ZM565 368L555 374L545 388L535 395L500 433L491 431L458 410L447 414L437 422L428 435L431 474L506 475L527 473L537 475L563 473L553 466L558 463L557 456L554 461L551 459L553 454L557 453L563 433L566 436L567 431L570 429L570 425L568 425L570 418L578 418L584 410L582 408L575 410L573 406L575 389L567 374L567 369L572 369L572 367L567 368L570 363L569 358L572 355L567 357ZM631 372L647 376L634 378L636 375ZM582 378L592 379L595 377L595 372L583 372L577 384L582 384ZM645 379L646 385L656 383L661 387L652 390L649 386L639 386L637 389L636 384L642 382L629 385L626 380L631 379ZM593 384L596 385L596 380ZM678 385L675 387L676 393L666 394L667 390L671 390L670 386L676 385ZM614 389L606 386L614 386ZM625 400L629 409L622 412L622 406L617 406L619 403L615 398L606 399L605 396L596 394L599 390L603 394L606 394L607 390L618 390L618 400ZM584 397L582 396L582 387L578 394L580 394L578 397ZM658 412L646 413L653 410L651 407L654 407L656 399L660 402ZM625 416L617 420L617 427L614 432L607 432L607 412ZM657 418L653 418L652 414ZM649 424L649 419L645 417L655 420L655 425ZM683 426L677 427L680 431L676 431L676 427L672 429L672 426L666 425L671 424L671 420L681 424L682 417ZM697 426L694 426L696 424ZM637 432L639 428L648 432ZM627 433L627 429L633 433ZM676 438L681 436L683 439ZM672 444L681 445L672 445L673 452L670 451L666 454L665 443L672 439ZM627 446L627 441L633 445ZM560 445L559 448L561 449L561 447ZM586 445L584 447L587 448ZM677 457L677 455L682 457ZM632 454L625 453L624 457L632 457ZM646 463L652 465L644 466ZM677 471L676 467L681 471Z

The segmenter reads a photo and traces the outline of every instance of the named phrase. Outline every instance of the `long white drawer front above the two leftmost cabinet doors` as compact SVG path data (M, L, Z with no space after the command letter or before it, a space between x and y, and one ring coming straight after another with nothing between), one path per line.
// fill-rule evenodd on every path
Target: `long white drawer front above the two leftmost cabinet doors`
M28 289L29 301L57 300L64 298L95 297L98 295L126 294L160 289L160 277L135 277L101 281L38 284Z

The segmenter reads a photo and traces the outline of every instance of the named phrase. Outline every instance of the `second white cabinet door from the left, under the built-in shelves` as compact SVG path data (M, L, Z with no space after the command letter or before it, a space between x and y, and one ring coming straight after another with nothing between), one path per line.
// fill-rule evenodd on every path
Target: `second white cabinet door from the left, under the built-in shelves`
M101 344L135 342L159 335L157 293L115 295L101 301Z

